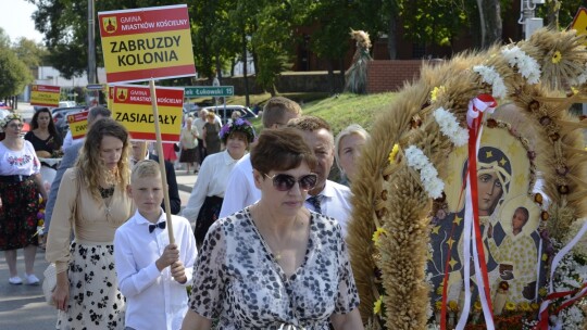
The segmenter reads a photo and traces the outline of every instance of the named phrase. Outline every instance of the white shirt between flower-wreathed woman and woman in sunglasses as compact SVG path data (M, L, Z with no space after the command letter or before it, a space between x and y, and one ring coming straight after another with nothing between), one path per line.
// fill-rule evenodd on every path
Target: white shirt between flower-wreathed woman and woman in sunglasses
M261 190L254 186L250 154L245 155L230 173L222 202L220 217L224 218L233 213L254 204L261 199Z

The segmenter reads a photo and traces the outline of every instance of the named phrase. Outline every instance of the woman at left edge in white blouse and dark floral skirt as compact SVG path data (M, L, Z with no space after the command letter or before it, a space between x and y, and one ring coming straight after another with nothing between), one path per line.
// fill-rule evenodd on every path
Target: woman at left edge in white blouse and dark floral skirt
M39 240L37 213L39 193L47 199L40 176L40 162L30 142L21 138L23 118L9 114L0 119L0 251L9 266L9 283L22 284L16 270L16 250L24 250L27 284L38 284L33 274Z

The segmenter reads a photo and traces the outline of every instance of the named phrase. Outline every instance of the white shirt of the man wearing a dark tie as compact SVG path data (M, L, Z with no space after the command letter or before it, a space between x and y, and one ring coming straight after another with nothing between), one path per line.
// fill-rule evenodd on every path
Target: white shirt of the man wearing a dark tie
M320 202L322 214L337 219L342 228L342 237L347 238L347 224L351 215L350 189L347 186L326 180L324 189L319 194L322 195ZM309 198L311 198L310 194L308 194L304 205L308 210L315 211L314 205L308 202Z

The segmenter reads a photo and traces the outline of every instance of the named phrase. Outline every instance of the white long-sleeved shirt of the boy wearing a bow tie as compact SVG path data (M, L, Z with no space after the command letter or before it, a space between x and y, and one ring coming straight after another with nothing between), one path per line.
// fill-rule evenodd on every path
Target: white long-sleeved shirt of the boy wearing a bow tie
M165 219L165 212L161 210L158 223ZM126 327L167 330L182 328L188 310L186 285L191 284L198 251L189 223L175 215L172 215L172 223L179 259L186 268L187 281L184 284L173 279L170 267L159 271L155 266L157 259L170 244L168 224L165 229L155 228L149 232L151 223L137 211L116 230L114 258L118 289L126 297Z

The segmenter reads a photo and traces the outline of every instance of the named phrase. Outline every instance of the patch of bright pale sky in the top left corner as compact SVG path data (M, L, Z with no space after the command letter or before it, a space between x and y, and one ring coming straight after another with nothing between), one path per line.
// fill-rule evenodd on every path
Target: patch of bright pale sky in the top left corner
M15 42L21 37L42 41L42 35L35 29L35 23L30 15L36 10L36 5L26 0L0 0L0 27L10 36L10 40Z

